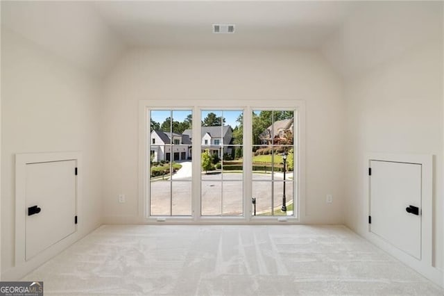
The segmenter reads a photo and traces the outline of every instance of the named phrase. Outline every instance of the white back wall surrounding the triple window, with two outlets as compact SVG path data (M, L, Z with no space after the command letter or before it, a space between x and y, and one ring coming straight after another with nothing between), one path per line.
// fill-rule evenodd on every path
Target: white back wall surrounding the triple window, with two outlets
M162 99L307 101L307 217L343 223L341 79L313 52L133 50L105 82L105 222L138 222L138 102ZM117 197L126 194L126 204ZM332 204L325 195L334 195Z

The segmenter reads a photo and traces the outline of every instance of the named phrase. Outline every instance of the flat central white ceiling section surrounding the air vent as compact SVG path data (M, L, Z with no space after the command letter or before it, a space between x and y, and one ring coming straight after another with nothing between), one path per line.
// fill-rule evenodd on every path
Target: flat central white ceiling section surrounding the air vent
M96 10L126 44L147 47L294 47L313 49L339 28L352 2L97 2ZM212 34L212 24L236 33Z

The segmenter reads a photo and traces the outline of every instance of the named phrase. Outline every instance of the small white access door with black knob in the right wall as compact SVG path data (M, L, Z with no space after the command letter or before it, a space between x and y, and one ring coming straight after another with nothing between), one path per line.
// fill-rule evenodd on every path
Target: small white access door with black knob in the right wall
M421 165L370 161L370 167L370 231L420 259Z

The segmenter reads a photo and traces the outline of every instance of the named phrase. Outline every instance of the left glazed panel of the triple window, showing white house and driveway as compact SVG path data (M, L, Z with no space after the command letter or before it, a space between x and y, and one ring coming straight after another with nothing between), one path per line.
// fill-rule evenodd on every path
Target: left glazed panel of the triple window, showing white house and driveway
M191 215L191 110L151 110L150 215Z

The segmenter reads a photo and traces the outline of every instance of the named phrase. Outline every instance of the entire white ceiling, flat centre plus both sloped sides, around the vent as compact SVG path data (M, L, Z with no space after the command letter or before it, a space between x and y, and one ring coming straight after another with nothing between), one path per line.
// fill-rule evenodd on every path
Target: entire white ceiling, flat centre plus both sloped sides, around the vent
M2 28L95 74L156 47L316 50L351 75L442 38L442 22L442 1L1 1Z

